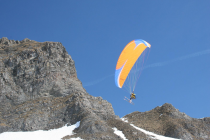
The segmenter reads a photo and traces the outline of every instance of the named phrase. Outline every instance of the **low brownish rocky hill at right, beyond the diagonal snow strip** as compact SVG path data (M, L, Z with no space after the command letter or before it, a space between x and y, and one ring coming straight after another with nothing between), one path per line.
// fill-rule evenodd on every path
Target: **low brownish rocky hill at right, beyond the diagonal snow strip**
M133 112L124 118L140 128L168 137L183 140L210 139L210 118L191 118L168 103L151 111Z

